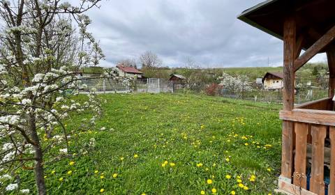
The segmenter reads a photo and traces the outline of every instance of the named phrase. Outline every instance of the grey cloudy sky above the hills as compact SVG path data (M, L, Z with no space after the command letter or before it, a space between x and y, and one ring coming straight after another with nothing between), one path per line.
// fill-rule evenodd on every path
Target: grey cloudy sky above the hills
M114 66L151 51L163 65L182 67L191 59L204 68L278 66L283 42L237 20L262 0L103 0L90 10L90 31ZM326 61L325 55L312 61Z

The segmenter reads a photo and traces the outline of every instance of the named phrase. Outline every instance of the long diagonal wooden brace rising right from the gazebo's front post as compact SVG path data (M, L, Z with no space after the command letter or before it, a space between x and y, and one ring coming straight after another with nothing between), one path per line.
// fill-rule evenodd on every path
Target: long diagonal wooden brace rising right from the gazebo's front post
M307 63L318 52L324 49L330 42L335 39L335 26L332 27L324 36L317 40L311 47L309 47L302 56L295 60L295 71L299 70L301 66Z

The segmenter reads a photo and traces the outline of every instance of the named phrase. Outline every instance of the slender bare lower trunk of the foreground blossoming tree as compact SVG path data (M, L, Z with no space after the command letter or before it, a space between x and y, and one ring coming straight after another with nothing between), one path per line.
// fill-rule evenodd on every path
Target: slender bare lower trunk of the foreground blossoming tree
M44 180L44 170L43 170L43 152L42 148L40 146L40 140L38 139L38 134L36 131L36 123L35 123L35 116L34 114L30 114L29 116L29 130L31 132L31 139L34 141L34 150L35 150L35 181L36 186L38 189L39 195L45 195L46 194L46 188L45 188L45 180Z

